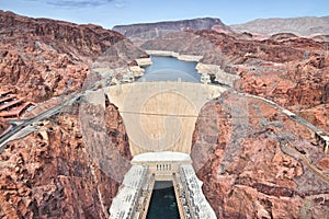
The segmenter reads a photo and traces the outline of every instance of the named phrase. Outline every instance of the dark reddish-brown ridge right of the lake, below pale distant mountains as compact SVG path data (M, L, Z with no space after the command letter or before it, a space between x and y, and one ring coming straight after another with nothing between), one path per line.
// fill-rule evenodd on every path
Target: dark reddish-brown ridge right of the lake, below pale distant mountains
M216 32L198 31L194 34L204 37L214 44L227 57L230 65L264 65L266 62L284 64L303 60L316 50L322 50L324 44L308 38L294 38L284 42L277 41L245 41Z

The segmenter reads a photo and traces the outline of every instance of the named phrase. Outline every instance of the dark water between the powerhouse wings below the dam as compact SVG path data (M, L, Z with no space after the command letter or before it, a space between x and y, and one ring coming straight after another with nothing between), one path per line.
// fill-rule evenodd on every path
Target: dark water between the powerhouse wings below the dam
M147 219L179 219L179 209L175 201L171 181L155 183Z

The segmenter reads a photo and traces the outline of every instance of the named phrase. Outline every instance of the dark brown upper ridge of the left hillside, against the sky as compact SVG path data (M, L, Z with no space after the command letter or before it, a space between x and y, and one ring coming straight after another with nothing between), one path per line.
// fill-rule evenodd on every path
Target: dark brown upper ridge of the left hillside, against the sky
M124 39L123 35L93 24L77 25L49 19L31 19L3 11L0 21L1 39L21 44L21 49L29 43L33 46L34 39L52 46L60 54L94 57Z

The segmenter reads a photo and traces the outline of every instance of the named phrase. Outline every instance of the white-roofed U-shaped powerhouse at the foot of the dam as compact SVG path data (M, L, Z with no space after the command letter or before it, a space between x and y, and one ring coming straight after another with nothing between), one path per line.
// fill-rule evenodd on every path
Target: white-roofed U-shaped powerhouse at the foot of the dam
M189 154L172 151L147 152L134 157L132 164L117 196L113 199L110 218L159 218L160 212L150 209L154 208L151 197L158 196L157 193L161 196L162 192L155 188L163 187L161 185L166 187L167 183L169 187L173 186L174 195L170 188L171 191L164 191L163 197L167 195L168 198L175 199L178 218L216 218L202 192L202 182L195 175ZM170 203L169 208L173 205Z

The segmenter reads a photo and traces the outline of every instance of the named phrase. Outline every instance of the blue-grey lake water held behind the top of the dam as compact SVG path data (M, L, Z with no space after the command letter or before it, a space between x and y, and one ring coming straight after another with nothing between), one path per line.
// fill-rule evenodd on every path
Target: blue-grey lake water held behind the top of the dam
M181 61L173 57L151 56L152 65L145 68L138 81L189 81L200 82L195 70L196 61Z

